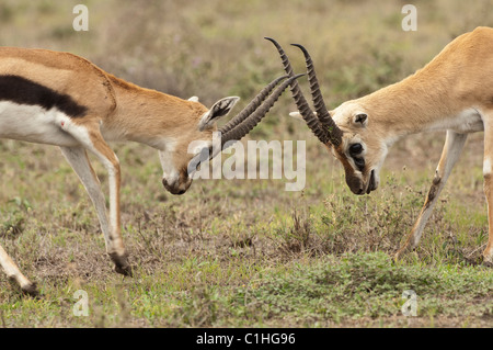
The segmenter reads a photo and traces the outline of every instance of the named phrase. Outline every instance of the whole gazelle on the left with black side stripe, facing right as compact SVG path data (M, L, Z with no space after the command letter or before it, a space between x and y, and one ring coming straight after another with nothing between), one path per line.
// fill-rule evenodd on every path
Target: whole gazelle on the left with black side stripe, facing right
M285 78L266 86L219 129L222 145L246 135L298 76L280 83ZM164 188L172 194L183 194L192 183L190 171L205 160L202 150L211 147L216 122L238 100L228 97L207 109L195 97L182 100L140 88L69 53L0 48L0 138L60 147L94 204L116 272L125 275L131 274L131 269L121 236L121 168L107 142L137 142L158 149ZM206 145L188 154L194 140ZM108 211L88 150L107 171ZM34 283L1 246L0 264L23 292L36 294Z

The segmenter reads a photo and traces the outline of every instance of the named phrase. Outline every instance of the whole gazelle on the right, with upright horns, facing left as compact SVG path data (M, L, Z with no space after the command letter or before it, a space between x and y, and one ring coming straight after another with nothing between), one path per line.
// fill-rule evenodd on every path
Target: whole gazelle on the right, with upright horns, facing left
M293 69L274 39L288 75ZM389 147L399 138L446 131L445 146L417 221L395 259L414 249L468 134L484 131L484 193L489 241L483 263L493 266L493 29L478 27L449 43L429 64L400 82L328 111L312 60L305 54L316 112L298 83L291 92L299 112L316 136L342 162L346 183L355 194L375 191Z

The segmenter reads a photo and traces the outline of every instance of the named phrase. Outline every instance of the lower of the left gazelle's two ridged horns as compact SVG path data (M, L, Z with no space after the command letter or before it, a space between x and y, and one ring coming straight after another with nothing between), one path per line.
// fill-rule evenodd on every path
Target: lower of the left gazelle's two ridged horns
M244 121L238 124L233 129L221 135L221 146L223 146L228 140L239 140L244 135L250 133L256 124L267 114L268 110L274 105L280 94L286 90L286 88L291 84L296 79L305 75L296 75L284 81L277 89L262 103L259 109L250 114Z

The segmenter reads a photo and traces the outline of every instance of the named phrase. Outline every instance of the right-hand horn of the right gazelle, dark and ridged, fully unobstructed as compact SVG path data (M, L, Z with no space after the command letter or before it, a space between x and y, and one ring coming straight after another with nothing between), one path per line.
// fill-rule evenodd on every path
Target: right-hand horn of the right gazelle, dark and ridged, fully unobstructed
M313 106L316 109L317 116L323 127L329 131L330 143L337 147L342 142L343 132L339 128L337 124L335 124L334 120L326 109L325 102L323 101L322 93L320 92L319 80L317 79L317 75L314 71L313 61L308 54L308 50L303 46L299 44L291 45L300 48L305 55L308 71L308 81L310 82L311 97L313 100Z

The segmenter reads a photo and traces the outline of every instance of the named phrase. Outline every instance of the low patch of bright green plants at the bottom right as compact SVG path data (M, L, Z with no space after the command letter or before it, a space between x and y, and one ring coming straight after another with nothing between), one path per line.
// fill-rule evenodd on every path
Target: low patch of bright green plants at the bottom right
M285 276L271 276L248 295L239 290L237 301L264 309L264 319L290 315L339 323L347 317L402 316L406 290L419 296L419 316L491 315L493 311L493 276L486 270L394 264L382 252L347 253L339 261L330 258ZM477 303L469 303L471 297Z

